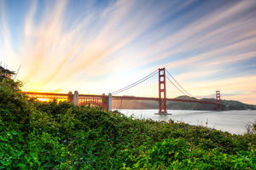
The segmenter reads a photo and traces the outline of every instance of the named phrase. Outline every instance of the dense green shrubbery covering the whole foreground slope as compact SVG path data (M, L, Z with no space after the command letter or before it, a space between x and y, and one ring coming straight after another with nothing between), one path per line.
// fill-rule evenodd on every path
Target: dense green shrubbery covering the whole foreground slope
M1 77L0 169L256 169L255 133L40 103L18 87Z

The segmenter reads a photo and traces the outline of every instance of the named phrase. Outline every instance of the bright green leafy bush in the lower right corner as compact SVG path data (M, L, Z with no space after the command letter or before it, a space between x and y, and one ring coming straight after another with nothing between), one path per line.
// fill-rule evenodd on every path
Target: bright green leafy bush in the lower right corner
M255 169L255 150L229 155L192 147L184 139L166 139L139 162L144 169Z

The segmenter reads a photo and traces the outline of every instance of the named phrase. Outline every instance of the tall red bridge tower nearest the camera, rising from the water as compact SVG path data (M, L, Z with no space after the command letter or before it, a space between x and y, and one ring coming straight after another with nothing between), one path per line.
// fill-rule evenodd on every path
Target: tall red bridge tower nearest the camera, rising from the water
M158 70L159 76L159 114L167 114L166 111L166 68Z

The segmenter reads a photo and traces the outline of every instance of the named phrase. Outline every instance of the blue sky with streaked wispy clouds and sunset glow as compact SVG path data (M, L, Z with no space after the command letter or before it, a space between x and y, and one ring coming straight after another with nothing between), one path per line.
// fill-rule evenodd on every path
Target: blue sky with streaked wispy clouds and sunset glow
M0 61L23 91L108 94L166 67L197 98L256 105L256 1L0 0Z

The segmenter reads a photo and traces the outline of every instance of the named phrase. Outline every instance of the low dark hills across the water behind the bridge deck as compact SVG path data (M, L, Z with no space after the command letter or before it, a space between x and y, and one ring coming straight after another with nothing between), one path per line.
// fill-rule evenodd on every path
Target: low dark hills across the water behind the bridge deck
M179 96L175 99L196 99L189 96ZM200 99L201 101L212 101L215 102L216 99ZM248 105L241 103L235 100L221 100L222 104L225 105L223 107L224 111L230 110L256 110L256 105ZM115 101L113 100L113 108L114 109L158 109L157 101ZM207 105L200 103L189 103L189 102L175 102L169 101L167 102L167 109L172 110L196 110L196 111L216 111L216 105Z

